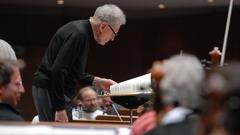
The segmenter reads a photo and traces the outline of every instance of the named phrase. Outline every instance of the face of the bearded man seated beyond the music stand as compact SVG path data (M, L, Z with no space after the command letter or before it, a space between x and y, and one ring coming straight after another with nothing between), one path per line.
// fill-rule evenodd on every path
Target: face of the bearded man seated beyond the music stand
M95 112L98 108L97 95L93 90L87 90L82 93L82 108L85 112Z

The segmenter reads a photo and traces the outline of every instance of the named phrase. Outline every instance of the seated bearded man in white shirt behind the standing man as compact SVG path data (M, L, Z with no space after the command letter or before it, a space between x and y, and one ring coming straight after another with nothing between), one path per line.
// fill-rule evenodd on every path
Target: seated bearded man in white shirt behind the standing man
M75 101L77 106L72 110L73 120L94 120L98 115L103 115L103 111L99 109L97 93L92 87L80 89Z

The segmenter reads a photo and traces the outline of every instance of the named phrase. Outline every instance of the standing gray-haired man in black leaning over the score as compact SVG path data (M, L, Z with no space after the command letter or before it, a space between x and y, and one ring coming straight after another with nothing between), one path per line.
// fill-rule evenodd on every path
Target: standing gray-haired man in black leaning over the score
M76 20L59 28L33 77L32 94L40 121L71 120L71 100L77 84L108 90L116 82L85 73L91 41L105 46L126 23L114 4L96 9L89 20Z

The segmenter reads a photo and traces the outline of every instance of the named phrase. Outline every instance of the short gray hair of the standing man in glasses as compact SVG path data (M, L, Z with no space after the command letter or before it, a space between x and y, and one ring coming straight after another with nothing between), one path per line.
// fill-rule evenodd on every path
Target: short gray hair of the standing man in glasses
M126 16L123 11L114 4L105 4L96 9L93 17L93 23L100 24L106 21L109 25L124 25L126 23Z

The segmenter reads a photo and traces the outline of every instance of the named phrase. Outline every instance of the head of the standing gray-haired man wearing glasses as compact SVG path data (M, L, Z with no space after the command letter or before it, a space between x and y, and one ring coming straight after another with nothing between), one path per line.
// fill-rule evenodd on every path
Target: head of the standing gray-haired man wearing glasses
M126 16L116 5L106 4L98 7L89 20L95 40L100 45L105 45L110 40L113 41L117 36L121 25L126 23ZM105 32L107 33L104 34Z

